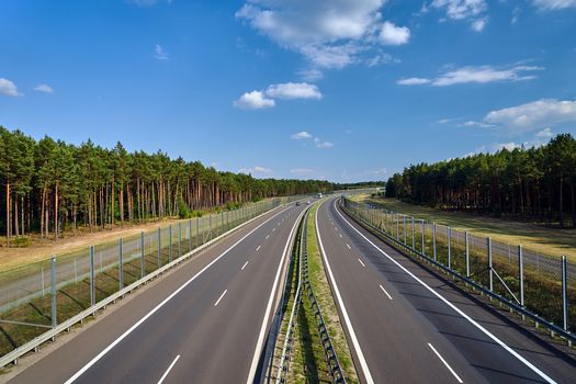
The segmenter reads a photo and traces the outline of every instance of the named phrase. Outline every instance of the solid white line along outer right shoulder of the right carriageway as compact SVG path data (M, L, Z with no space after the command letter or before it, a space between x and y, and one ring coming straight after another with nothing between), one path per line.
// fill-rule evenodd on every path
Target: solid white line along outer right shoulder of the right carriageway
M486 335L488 338L490 338L493 341L495 341L498 346L502 347L507 352L509 352L511 355L513 355L516 359L521 361L526 366L528 366L532 372L537 373L540 377L544 379L549 383L556 383L552 377L546 375L544 372L540 371L535 365L533 365L531 362L529 362L527 359L524 359L521 354L519 354L517 351L508 347L504 341L498 339L496 336L494 336L489 330L484 328L482 325L479 325L476 320L474 320L472 317L466 315L464 312L462 312L459 307L456 307L454 304L450 303L444 296L432 290L428 284L426 284L423 281L421 281L419 278L417 278L414 273L408 271L406 268L404 268L399 262L394 260L388 253L384 252L382 249L380 249L374 242L372 242L368 237L362 235L360 230L358 230L350 222L348 222L345 216L338 211L336 207L336 200L334 202L334 207L338 215L353 229L355 230L360 236L364 238L372 247L376 248L382 255L384 255L386 258L388 258L393 263L395 263L399 269L402 269L404 272L406 272L410 278L416 280L418 283L420 283L423 287L426 287L428 291L430 291L434 296L440 298L444 304L447 304L449 307L451 307L453 310L455 310L460 316L464 317L466 320L468 320L473 326L475 326L478 330L481 330L484 335Z

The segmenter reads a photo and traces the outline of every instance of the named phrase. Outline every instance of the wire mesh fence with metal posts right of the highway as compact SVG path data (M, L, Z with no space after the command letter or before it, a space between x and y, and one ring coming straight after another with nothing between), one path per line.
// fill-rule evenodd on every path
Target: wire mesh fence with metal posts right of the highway
M458 272L543 320L576 331L576 263L521 246L342 199L343 207L411 251Z

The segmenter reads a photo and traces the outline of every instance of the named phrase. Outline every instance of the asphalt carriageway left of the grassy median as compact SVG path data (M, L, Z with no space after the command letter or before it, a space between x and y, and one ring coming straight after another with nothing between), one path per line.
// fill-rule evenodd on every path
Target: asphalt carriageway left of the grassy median
M251 383L303 210L246 225L12 382Z

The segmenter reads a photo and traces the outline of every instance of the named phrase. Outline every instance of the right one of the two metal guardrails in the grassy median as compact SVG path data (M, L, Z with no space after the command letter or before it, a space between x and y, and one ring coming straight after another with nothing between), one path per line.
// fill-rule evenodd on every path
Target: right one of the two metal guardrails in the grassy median
M318 335L320 337L320 341L323 345L326 362L328 363L328 366L330 369L330 375L332 376L332 382L334 383L346 383L346 379L342 373L340 362L338 361L338 357L336 355L336 351L334 349L332 340L330 339L330 335L328 335L328 329L326 328L326 323L324 321L320 306L318 305L318 302L316 301L316 295L314 294L314 290L312 287L310 280L309 280L308 241L307 241L308 217L309 217L309 211L306 214L306 217L304 218L304 229L302 233L302 241L301 241L301 247L302 247L301 249L303 250L303 253L302 253L302 284L303 284L304 290L307 293L308 300L312 303L310 304L312 310L314 312L314 318L316 320L317 330L318 330Z

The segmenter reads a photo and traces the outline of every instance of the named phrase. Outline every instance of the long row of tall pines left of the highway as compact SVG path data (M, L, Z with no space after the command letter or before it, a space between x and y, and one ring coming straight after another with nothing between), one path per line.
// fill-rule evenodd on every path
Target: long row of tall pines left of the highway
M91 140L75 146L46 136L36 142L2 126L0 180L0 234L8 245L29 233L58 238L65 228L104 228L334 188L327 181L219 172L162 151L128 153L121 143L108 149Z

